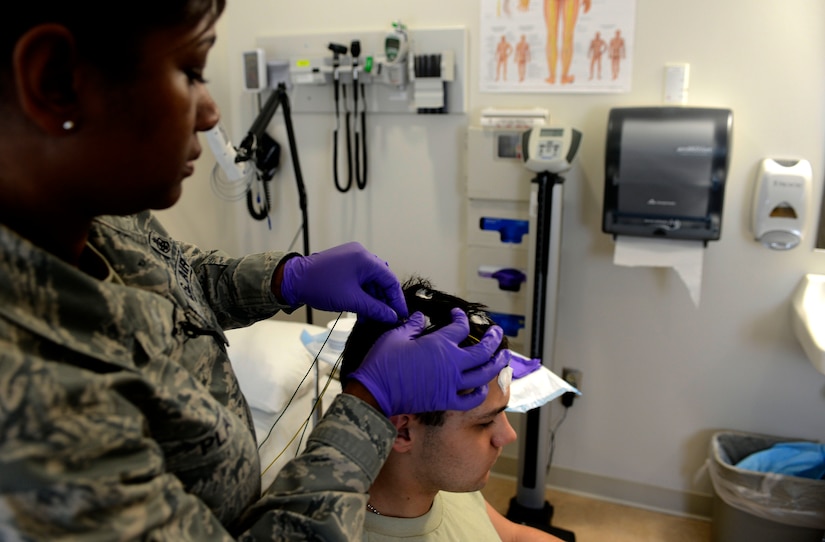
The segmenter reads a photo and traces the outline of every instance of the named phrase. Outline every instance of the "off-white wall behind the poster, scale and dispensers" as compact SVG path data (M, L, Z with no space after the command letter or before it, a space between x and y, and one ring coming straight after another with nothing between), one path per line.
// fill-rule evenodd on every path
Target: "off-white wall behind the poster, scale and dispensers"
M814 221L819 215L825 3L638 0L630 93L493 95L477 90L477 1L230 0L208 73L230 132L240 137L252 119L252 99L241 91L240 52L257 37L351 29L355 38L397 18L411 28L469 29L472 115L373 116L370 185L346 195L332 185L332 120L296 118L313 250L356 239L399 275L418 272L457 290L464 127L490 105L546 107L554 124L584 133L578 166L566 182L556 346L559 372L563 366L583 372L584 397L557 436L554 469L578 479L707 493L707 482L697 486L693 476L716 430L825 438L825 375L805 358L789 320L802 275L825 273L825 254L813 250L815 224L789 252L761 247L748 225L754 173L769 156L811 161ZM734 111L722 238L706 250L699 308L670 271L614 266L613 241L601 233L607 113L614 106L661 104L663 66L672 61L690 63L689 105ZM274 133L285 143L276 124ZM204 177L211 164L205 156L182 204L164 213L170 230L236 254L285 248L299 223L291 172L274 181L270 232L252 224L243 205L216 201ZM227 236L230 229L234 237Z

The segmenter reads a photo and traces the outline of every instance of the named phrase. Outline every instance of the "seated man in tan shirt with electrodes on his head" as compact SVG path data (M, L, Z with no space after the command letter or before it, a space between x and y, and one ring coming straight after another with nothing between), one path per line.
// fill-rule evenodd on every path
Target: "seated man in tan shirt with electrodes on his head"
M453 308L463 310L470 324L470 335L462 346L477 342L493 324L483 305L434 290L425 280L408 280L403 290L410 313L417 311L427 317L425 334L449 324ZM355 324L343 352L342 383L387 330L386 324L374 321ZM508 355L507 346L504 337L496 355ZM508 520L479 491L486 485L502 448L516 439L504 414L512 370L506 367L502 373L488 384L486 400L472 410L390 417L398 436L370 488L365 540L412 537L561 542L548 533Z

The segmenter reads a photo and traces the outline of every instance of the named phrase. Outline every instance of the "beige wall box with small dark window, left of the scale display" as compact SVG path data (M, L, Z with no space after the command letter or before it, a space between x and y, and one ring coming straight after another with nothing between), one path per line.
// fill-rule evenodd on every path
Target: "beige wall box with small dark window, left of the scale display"
M521 159L524 130L467 130L467 196L529 201L533 174Z

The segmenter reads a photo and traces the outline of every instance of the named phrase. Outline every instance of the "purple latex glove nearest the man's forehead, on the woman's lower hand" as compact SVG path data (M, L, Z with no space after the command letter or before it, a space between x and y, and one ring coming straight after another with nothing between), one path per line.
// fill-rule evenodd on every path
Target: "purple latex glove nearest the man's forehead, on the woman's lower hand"
M352 373L387 416L469 410L484 402L487 383L507 365L507 356L493 358L504 333L490 326L478 344L459 347L470 327L461 309L452 315L451 324L419 337L425 320L416 312L382 335ZM459 394L466 390L472 391Z

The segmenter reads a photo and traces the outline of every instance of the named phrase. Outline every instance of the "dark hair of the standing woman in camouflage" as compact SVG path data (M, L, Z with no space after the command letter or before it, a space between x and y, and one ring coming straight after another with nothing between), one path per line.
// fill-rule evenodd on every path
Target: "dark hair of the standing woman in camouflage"
M175 26L195 26L204 17L217 19L225 0L23 0L0 17L0 95L9 84L12 51L29 29L60 24L75 37L80 55L112 81L128 81L146 34Z

